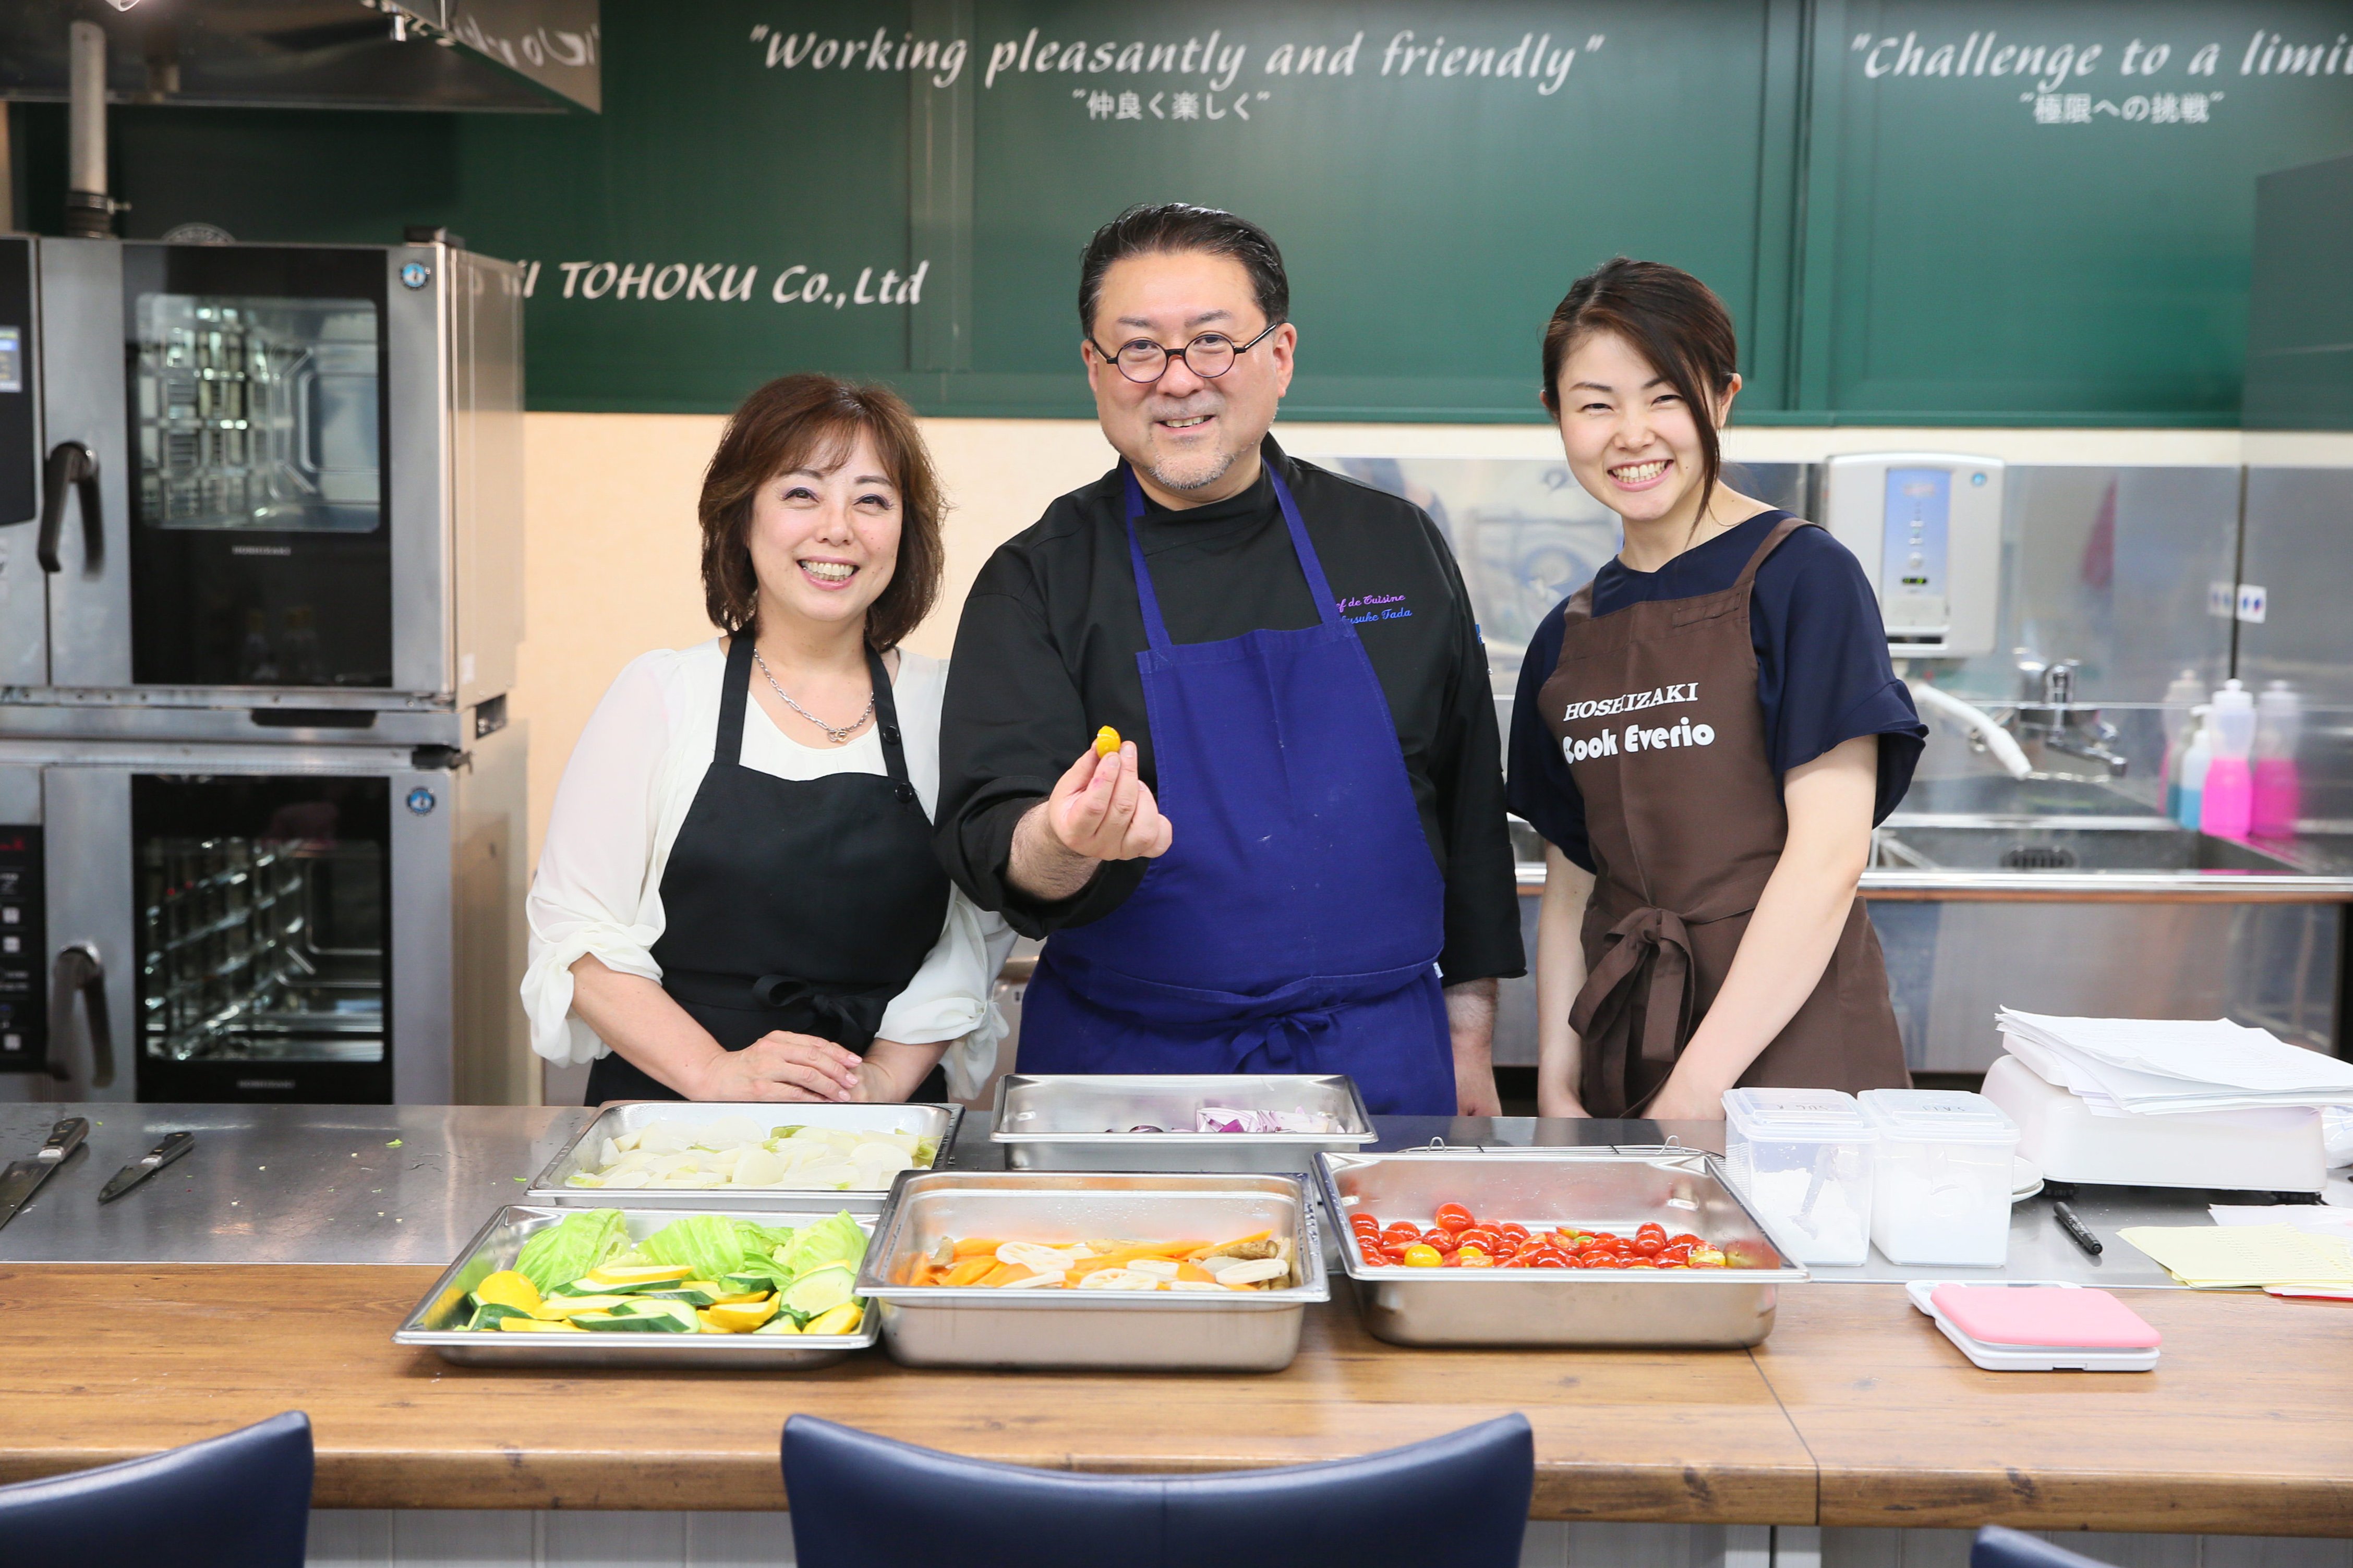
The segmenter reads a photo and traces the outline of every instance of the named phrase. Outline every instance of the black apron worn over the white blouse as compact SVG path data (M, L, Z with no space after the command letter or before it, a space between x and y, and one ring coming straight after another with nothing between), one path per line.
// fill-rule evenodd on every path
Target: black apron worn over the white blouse
M751 632L727 646L711 769L661 872L661 990L729 1051L772 1030L866 1053L948 919L948 875L906 778L899 708L866 649L889 776L776 778L744 766ZM588 1105L682 1100L619 1053L588 1070ZM939 1067L915 1100L946 1100Z

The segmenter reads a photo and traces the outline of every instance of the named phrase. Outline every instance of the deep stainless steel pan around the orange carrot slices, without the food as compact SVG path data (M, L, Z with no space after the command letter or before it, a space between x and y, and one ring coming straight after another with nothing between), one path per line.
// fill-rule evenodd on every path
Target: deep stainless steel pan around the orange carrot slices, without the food
M892 1284L941 1237L1209 1241L1289 1237L1301 1284L1249 1293L979 1291ZM1052 1175L908 1171L866 1248L859 1295L906 1366L1275 1373L1299 1354L1308 1302L1332 1300L1301 1175Z

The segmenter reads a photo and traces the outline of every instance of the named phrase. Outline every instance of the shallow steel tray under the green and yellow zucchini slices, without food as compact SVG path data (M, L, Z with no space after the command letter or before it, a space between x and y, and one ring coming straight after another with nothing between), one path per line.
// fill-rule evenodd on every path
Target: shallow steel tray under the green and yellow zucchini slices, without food
M609 1204L607 1204L609 1208ZM882 1333L873 1302L856 1333L795 1335L795 1333L487 1333L452 1328L464 1316L466 1293L496 1274L515 1267L515 1255L534 1229L546 1229L572 1215L572 1208L527 1208L511 1204L489 1218L456 1262L433 1281L426 1298L393 1331L393 1345L421 1345L459 1366L758 1366L758 1368L809 1368L833 1366L854 1349L868 1349ZM734 1211L727 1218L753 1220L755 1225L795 1225L831 1220L833 1208L805 1208L802 1213ZM624 1208L631 1241L649 1234L678 1218L675 1208ZM873 1251L873 1218L856 1215Z

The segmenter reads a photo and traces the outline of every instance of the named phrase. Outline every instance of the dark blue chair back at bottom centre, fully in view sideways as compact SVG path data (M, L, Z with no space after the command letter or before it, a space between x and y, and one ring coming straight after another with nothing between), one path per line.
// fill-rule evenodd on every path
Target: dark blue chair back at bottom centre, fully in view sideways
M1518 1568L1525 1415L1360 1460L1209 1476L1080 1476L784 1422L800 1568Z

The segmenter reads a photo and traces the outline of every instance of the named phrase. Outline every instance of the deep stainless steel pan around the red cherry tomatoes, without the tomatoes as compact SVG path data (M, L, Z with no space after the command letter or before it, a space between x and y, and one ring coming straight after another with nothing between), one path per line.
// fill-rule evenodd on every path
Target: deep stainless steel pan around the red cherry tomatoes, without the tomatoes
M1315 1180L1341 1237L1341 1267L1365 1326L1393 1345L1755 1345L1777 1291L1809 1274L1788 1262L1725 1182L1689 1150L1407 1150L1320 1154ZM1348 1215L1431 1222L1438 1204L1475 1215L1631 1232L1659 1220L1697 1232L1727 1269L1372 1269L1348 1244Z

